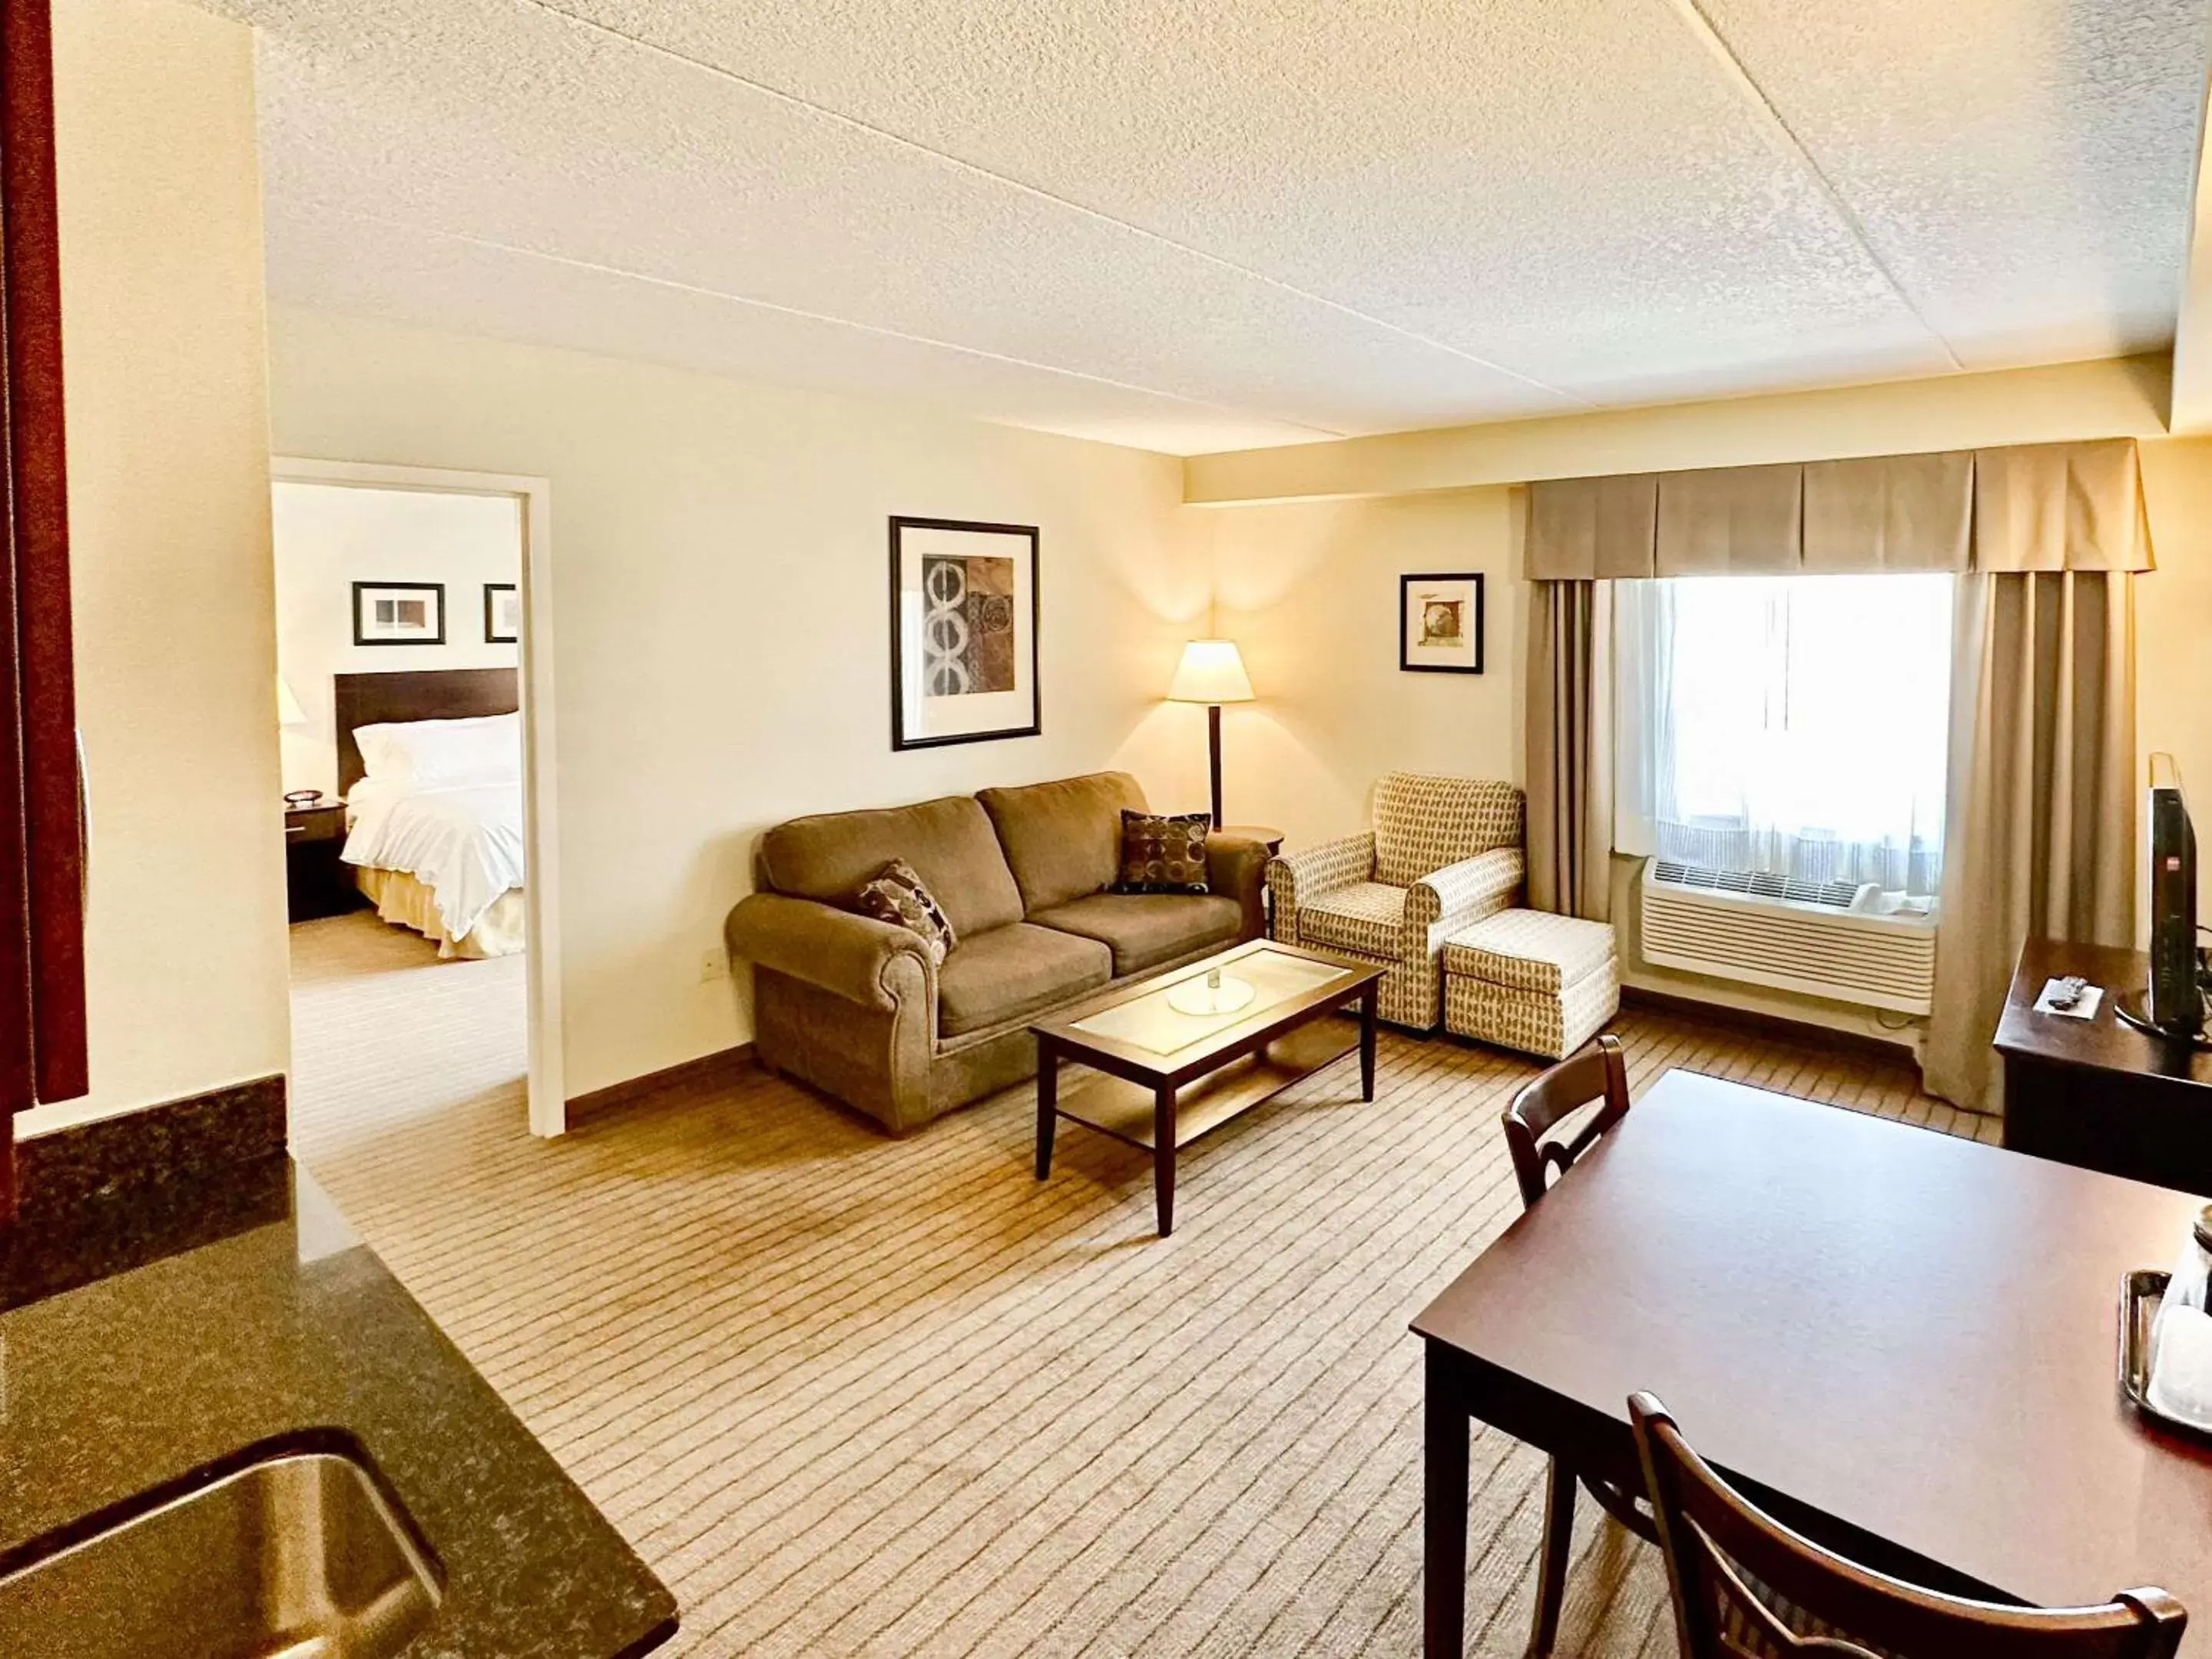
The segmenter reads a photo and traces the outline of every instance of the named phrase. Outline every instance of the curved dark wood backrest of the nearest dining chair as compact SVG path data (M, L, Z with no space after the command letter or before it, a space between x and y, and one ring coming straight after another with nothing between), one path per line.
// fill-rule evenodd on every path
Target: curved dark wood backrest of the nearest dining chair
M1798 1537L1734 1493L1650 1394L1628 1400L1683 1659L2170 1659L2166 1590L2013 1608L1920 1590Z

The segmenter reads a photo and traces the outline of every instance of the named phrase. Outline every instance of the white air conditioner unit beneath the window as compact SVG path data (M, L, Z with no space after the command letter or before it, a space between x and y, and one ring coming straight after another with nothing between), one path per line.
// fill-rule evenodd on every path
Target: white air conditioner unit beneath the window
M1672 858L1644 865L1644 960L1717 980L1927 1013L1936 918L1878 909L1874 887L1807 883Z

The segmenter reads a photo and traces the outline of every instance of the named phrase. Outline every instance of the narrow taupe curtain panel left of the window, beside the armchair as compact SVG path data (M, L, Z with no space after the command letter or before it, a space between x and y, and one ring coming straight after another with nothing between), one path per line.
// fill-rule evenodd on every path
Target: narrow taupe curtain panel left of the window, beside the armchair
M1528 907L1613 911L1613 584L1540 582L1528 613Z

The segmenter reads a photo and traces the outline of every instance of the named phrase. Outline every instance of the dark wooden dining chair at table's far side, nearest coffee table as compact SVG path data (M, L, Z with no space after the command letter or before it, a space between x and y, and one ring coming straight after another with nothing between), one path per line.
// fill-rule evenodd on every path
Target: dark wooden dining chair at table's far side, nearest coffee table
M1546 1139L1584 1106L1597 1106L1573 1135ZM1522 1208L1533 1210L1548 1186L1548 1170L1566 1175L1575 1159L1628 1115L1628 1064L1619 1037L1597 1037L1522 1088L1506 1106L1506 1150L1520 1181ZM1566 1564L1575 1544L1575 1486L1588 1489L1613 1520L1648 1544L1659 1542L1652 1517L1637 1495L1610 1480L1568 1469L1557 1458L1544 1478L1544 1548L1537 1557L1535 1621L1528 1659L1544 1659L1559 1637L1559 1606L1566 1601Z

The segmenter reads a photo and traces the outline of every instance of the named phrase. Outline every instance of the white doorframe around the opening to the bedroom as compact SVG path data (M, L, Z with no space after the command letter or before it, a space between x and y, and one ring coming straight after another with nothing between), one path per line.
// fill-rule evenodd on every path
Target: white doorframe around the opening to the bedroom
M553 480L400 467L380 460L270 456L272 484L414 489L434 495L509 495L522 502L522 914L529 929L531 1135L568 1128L560 1000L560 801L553 743Z

